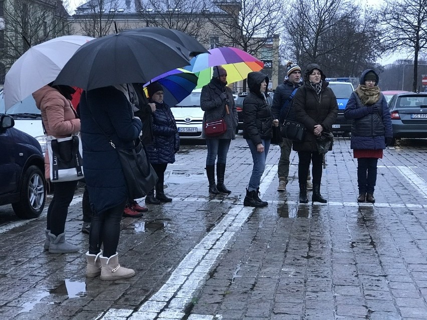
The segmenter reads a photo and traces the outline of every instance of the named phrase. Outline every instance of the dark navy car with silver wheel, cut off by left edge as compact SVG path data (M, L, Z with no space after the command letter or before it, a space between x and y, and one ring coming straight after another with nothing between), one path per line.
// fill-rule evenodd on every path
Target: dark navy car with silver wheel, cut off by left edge
M42 148L14 125L12 116L0 114L0 205L12 204L20 218L36 218L46 200Z

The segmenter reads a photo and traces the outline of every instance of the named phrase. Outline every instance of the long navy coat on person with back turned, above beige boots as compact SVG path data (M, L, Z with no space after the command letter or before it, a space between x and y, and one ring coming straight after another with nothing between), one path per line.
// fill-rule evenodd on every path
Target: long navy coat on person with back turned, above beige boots
M89 199L94 212L103 212L128 198L120 160L109 141L117 147L131 148L142 124L133 118L132 107L124 94L114 87L83 92L80 116Z

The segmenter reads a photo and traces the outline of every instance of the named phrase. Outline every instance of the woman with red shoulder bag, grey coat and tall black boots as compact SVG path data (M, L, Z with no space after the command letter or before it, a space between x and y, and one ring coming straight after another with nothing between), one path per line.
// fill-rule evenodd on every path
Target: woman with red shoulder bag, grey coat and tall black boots
M220 192L230 194L224 184L226 172L227 153L231 140L236 139L236 127L238 124L236 103L233 99L232 91L227 87L227 71L221 67L213 67L213 76L209 84L203 86L200 95L200 107L204 111L203 116L203 137L206 139L206 175L209 181L209 193L219 194ZM206 122L224 118L227 124L227 131L220 136L208 137L205 133ZM217 179L215 183L215 160L217 159Z

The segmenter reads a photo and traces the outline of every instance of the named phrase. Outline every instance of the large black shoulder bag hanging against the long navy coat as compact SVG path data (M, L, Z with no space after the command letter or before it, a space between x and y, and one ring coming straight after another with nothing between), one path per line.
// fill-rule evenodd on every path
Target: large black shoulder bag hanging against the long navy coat
M145 197L154 188L158 177L148 161L144 147L139 139L135 140L135 146L131 149L116 148L123 174L126 180L129 199Z

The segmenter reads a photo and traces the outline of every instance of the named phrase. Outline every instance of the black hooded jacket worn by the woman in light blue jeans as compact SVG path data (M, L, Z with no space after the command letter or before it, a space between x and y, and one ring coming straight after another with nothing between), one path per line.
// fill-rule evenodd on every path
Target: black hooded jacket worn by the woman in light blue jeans
M243 138L251 139L254 145L261 139L271 139L273 136L273 114L267 100L260 92L261 83L267 82L268 77L261 72L248 74L249 94L243 101Z

